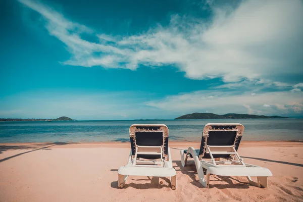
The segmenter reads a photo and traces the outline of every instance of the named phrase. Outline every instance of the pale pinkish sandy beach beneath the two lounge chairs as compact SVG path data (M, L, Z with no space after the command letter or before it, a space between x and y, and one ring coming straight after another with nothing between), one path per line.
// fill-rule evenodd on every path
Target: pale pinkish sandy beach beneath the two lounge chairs
M273 176L267 188L245 177L211 176L203 188L193 161L181 167L180 149L199 142L170 142L177 189L166 178L130 176L118 188L117 170L125 165L129 143L1 143L0 201L302 201L303 142L242 142L239 154ZM162 182L159 183L159 182Z

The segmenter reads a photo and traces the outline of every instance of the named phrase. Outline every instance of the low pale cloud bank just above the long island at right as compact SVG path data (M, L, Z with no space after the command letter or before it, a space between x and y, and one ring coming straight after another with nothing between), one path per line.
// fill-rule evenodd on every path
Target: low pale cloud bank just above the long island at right
M208 98L210 95L214 97ZM259 92L254 96L248 92L200 90L179 95L170 95L160 100L146 102L147 106L173 112L248 113L281 115L300 113L303 110L302 92ZM267 103L264 105L264 103ZM274 106L274 107L270 107Z

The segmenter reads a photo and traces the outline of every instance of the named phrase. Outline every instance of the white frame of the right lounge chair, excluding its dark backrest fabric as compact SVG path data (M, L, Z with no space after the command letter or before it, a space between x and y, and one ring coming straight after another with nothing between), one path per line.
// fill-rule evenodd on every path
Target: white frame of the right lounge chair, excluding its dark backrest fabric
M213 126L236 126L232 129L213 129ZM236 137L232 145L208 145L207 138L209 137L209 131L236 131ZM235 144L238 138L242 136L244 126L239 123L210 123L207 124L203 131L203 137L205 138L204 151L202 154L197 154L193 147L189 147L187 153L184 154L184 150L180 151L182 167L186 166L187 159L192 156L196 170L198 173L199 182L206 188L209 188L210 175L220 176L246 176L247 180L251 185L265 188L267 187L267 177L272 176L272 173L267 168L263 168L256 165L246 164L243 159L239 156ZM200 152L201 153L201 152ZM209 154L211 159L205 160L205 154ZM230 158L214 158L213 155L230 155ZM185 156L185 157L184 157ZM204 175L204 169L206 169L206 177ZM251 176L257 177L257 182L251 179Z

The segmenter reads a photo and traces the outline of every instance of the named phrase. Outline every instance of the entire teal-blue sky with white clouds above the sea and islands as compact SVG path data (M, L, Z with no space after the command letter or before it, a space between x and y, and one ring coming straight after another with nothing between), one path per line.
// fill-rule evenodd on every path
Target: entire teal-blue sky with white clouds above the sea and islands
M303 117L301 0L2 0L0 118Z

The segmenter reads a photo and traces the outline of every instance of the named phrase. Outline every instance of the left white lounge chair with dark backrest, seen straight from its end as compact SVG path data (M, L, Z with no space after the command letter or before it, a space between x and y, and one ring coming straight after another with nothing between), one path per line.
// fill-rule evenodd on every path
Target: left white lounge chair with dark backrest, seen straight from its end
M131 151L126 166L118 169L118 186L128 175L170 177L176 189L176 171L168 147L168 127L164 124L133 124L129 128Z

